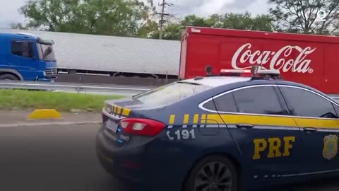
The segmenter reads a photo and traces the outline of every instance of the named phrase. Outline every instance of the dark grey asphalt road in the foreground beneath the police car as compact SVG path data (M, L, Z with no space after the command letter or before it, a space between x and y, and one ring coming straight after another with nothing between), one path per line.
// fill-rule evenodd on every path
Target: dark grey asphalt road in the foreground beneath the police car
M127 186L102 170L95 158L98 128L99 125L1 127L0 190L143 190ZM338 181L320 182L292 190L339 190ZM289 188L270 190L291 191Z

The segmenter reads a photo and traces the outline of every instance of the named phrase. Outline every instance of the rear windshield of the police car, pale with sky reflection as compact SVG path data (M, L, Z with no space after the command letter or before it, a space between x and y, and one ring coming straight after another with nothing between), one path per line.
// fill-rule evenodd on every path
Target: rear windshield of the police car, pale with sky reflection
M156 88L152 91L141 93L138 96L134 96L133 99L148 105L168 105L183 100L184 98L194 96L197 93L201 93L210 88L212 88L212 86L179 81Z

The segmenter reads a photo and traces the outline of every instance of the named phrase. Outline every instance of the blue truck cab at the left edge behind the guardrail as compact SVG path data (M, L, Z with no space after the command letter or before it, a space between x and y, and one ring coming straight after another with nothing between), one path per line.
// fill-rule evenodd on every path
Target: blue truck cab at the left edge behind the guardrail
M0 80L52 81L57 78L53 40L24 33L0 33Z

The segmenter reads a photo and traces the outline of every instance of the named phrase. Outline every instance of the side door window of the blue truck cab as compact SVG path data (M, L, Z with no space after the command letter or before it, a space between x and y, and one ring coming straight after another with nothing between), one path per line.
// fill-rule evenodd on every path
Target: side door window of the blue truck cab
M12 54L20 57L34 56L33 43L29 41L12 41Z

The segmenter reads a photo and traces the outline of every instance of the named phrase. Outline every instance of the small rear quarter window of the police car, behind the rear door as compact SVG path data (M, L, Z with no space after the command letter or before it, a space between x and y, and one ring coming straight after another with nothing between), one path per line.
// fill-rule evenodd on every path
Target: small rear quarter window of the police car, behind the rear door
M237 112L237 105L235 104L232 93L220 96L214 99L217 110L220 112Z

